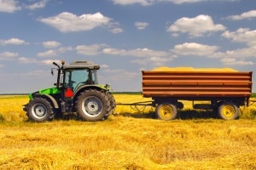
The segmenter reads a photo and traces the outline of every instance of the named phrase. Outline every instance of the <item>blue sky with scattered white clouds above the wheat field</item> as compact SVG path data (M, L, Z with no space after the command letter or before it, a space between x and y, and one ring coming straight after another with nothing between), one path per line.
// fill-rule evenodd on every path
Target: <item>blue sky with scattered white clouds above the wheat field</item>
M256 71L253 0L0 0L0 20L0 94L52 87L61 59L117 92L162 65Z

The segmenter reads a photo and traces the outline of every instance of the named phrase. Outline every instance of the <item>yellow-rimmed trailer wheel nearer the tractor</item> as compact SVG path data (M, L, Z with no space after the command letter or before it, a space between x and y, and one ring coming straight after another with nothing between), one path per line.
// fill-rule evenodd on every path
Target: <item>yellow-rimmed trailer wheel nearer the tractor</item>
M156 116L165 121L173 120L177 117L177 107L172 104L157 105Z

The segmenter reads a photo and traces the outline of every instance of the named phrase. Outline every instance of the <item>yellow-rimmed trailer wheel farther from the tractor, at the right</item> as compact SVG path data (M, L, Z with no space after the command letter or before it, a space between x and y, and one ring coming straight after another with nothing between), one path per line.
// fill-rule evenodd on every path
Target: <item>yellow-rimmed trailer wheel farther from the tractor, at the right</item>
M233 120L238 118L239 111L233 102L224 102L218 107L218 116L225 120Z

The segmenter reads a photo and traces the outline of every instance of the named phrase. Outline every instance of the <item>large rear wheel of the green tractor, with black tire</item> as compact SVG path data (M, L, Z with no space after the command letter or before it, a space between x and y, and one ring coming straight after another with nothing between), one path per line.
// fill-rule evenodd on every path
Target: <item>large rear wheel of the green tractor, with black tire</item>
M85 90L76 101L78 115L84 121L96 122L103 120L110 111L108 95L96 89Z

